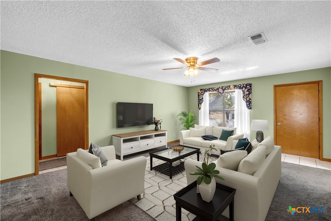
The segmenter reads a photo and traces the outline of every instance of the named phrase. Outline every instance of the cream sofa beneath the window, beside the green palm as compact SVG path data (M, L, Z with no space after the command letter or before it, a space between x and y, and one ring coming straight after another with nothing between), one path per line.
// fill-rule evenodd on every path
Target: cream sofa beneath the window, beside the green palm
M210 144L215 144L215 148L217 152L214 154L220 155L219 149L222 150L230 150L232 148L232 141L238 140L240 138L244 138L244 134L237 134L236 128L228 128L228 127L217 127L217 126L200 126L194 125L195 129L205 128L205 135L213 135L217 138L221 136L222 129L224 130L234 130L233 136L229 137L227 141L215 139L215 140L204 140L201 137L191 137L190 130L179 131L179 141L180 145L192 146L197 148L208 148Z

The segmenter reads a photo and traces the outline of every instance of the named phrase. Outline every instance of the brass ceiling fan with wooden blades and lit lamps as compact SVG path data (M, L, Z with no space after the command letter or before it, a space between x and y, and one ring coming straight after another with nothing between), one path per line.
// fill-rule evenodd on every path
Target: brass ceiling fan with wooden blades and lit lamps
M179 61L180 63L187 65L186 67L183 68L187 68L188 69L185 71L184 75L187 77L195 77L198 76L200 73L198 70L203 70L203 71L209 71L209 72L216 72L218 71L218 69L214 69L214 68L205 68L205 67L201 67L203 65L208 65L208 64L212 64L215 62L219 62L218 58L212 58L209 59L207 61L203 61L197 64L198 62L198 58L197 57L188 57L185 58L185 61L183 61L180 58L174 58L176 61ZM166 68L166 69L162 69L162 70L171 70L171 69L182 69L182 68Z

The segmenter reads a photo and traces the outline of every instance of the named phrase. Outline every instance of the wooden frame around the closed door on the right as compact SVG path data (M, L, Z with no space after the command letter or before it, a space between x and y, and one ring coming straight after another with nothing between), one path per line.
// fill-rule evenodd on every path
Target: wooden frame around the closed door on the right
M323 114L322 114L322 81L311 81L311 82L300 82L300 83L286 83L286 84L276 84L273 85L273 133L274 133L274 142L277 143L277 133L276 133L276 87L283 86L293 86L300 84L311 84L318 83L318 128L319 128L319 160L323 160Z

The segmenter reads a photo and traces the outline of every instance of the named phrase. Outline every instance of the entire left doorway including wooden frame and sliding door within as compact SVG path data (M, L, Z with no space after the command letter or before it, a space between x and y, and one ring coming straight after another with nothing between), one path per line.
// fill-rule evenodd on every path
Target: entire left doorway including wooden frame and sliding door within
M52 159L65 161L66 153L74 152L77 148L88 149L88 81L35 74L34 83L35 175L38 175L39 162L45 164L45 161ZM48 101L45 97L42 99L42 94L47 91L45 88L51 91L48 91L51 94L48 98L53 100ZM42 108L42 103L47 102L53 102L48 105L51 111L44 109L48 115L43 115L42 110L46 104L43 104ZM53 115L50 112L53 112ZM47 130L43 130L45 128L42 127L42 116ZM47 136L47 142L42 135L44 138ZM48 142L49 140L51 142ZM52 163L47 166L52 167Z

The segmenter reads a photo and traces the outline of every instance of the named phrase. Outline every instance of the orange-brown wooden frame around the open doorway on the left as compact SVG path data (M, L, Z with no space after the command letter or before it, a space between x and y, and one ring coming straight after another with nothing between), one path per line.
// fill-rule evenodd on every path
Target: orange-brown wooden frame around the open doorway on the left
M34 175L39 174L39 78L84 83L85 149L88 149L88 81L51 75L34 74Z

